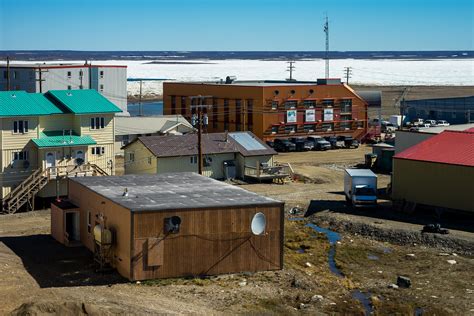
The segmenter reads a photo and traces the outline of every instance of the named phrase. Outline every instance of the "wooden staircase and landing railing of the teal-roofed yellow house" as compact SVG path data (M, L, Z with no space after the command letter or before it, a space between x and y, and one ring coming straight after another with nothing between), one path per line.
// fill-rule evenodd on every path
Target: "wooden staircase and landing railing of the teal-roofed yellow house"
M50 180L79 176L107 176L107 172L96 164L59 166L35 170L28 178L3 198L3 213L13 214L23 205L34 208L34 198Z

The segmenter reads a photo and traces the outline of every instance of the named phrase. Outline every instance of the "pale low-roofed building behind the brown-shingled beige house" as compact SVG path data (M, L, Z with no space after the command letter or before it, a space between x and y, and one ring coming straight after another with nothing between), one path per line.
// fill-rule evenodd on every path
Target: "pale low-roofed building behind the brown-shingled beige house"
M194 131L181 115L118 116L115 118L115 154L140 136L183 135Z

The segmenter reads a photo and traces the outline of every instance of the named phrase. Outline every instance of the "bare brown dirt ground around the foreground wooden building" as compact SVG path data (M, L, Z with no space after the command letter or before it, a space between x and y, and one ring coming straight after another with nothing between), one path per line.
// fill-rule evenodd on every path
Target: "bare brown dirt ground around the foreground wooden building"
M299 206L310 215L285 219L281 271L130 283L116 273L95 273L84 248L54 241L48 210L2 216L0 315L474 314L473 256L454 253L451 246L458 243L443 242L464 240L469 247L472 232L457 231L457 222L448 221L449 237L435 236L430 243L418 238L429 216L389 215L390 203L384 200L365 213L345 206L343 169L362 163L369 151L362 146L280 154L277 160L291 163L297 181L242 185L285 201L287 210ZM379 188L389 181L388 175L379 175ZM335 248L307 227L309 222L337 230L341 240ZM394 233L378 234L374 227ZM342 276L330 269L331 249ZM410 288L389 287L399 275L411 279Z

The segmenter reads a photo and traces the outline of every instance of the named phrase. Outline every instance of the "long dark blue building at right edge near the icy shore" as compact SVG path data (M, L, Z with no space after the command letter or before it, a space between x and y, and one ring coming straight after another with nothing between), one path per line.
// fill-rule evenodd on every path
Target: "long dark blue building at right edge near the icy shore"
M474 123L474 96L402 102L405 121L445 120L450 124Z

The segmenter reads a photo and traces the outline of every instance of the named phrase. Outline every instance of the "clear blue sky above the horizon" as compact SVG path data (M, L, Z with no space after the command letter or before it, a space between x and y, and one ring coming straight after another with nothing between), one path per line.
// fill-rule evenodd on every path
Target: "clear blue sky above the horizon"
M474 0L0 0L0 50L473 50Z

